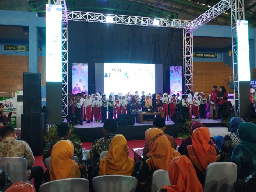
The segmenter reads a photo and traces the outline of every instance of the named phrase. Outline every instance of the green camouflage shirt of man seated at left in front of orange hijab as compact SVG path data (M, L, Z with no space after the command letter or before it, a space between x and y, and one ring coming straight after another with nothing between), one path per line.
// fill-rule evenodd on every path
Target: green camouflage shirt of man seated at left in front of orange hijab
M68 140L64 137L60 137L59 139L57 139L56 141L53 141L51 143L47 143L45 145L45 149L43 150L43 162L45 162L45 159L51 156L51 151L53 149L53 145L55 145L58 141L61 140ZM83 159L83 152L82 152L82 147L79 143L75 142L75 141L71 141L74 145L74 156L77 156L79 158L79 162L82 162Z

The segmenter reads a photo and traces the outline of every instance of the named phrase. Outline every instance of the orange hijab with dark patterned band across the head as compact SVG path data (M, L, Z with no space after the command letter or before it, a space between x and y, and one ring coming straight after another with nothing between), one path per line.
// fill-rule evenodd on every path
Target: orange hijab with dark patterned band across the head
M148 157L157 169L168 170L170 161L181 154L171 147L171 144L164 132L158 128L150 128L145 132L146 142L150 146ZM149 161L148 165L150 164ZM151 167L149 165L149 167Z

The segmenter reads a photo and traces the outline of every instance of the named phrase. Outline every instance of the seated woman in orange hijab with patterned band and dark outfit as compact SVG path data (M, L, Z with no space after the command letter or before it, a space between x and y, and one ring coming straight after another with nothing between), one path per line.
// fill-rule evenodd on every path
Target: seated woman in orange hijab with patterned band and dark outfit
M180 156L171 147L164 132L158 128L150 128L145 132L146 142L150 145L149 153L142 158L138 176L138 191L150 191L152 175L158 169L168 170L170 161Z

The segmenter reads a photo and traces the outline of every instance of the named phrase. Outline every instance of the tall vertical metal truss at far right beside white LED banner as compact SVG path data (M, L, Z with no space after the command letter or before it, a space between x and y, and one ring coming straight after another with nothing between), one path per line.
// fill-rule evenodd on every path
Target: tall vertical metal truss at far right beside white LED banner
M237 49L237 20L245 20L244 0L231 0L231 30L232 30L232 58L233 58L233 84L234 84L234 110L240 110L240 92L238 79L238 49ZM235 93L238 93L236 97ZM238 106L237 106L238 104Z

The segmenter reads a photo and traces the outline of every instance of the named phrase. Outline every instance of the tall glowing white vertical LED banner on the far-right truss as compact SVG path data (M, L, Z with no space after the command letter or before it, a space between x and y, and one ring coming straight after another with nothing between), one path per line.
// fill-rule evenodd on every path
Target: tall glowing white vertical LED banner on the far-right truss
M237 20L238 81L250 81L248 21Z

